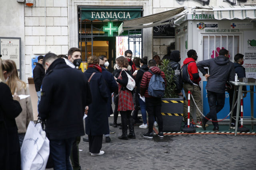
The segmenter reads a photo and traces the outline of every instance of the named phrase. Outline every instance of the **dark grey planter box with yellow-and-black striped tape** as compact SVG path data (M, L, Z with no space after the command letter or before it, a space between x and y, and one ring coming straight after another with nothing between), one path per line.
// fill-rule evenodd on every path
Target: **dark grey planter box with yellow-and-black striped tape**
M183 119L183 98L162 98L163 131L177 132Z

